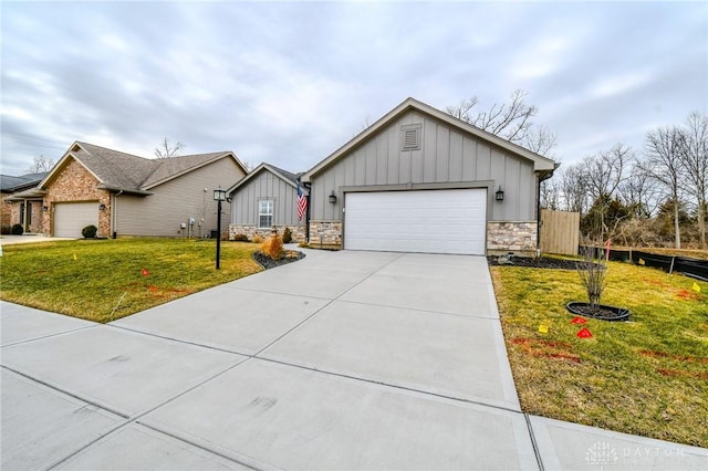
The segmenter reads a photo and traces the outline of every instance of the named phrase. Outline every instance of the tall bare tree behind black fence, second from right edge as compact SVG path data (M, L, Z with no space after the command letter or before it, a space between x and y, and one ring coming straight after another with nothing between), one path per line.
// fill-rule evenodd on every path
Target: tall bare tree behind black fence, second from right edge
M683 182L680 154L684 147L684 135L676 126L659 127L646 135L646 159L642 167L655 181L660 184L669 196L674 207L674 243L681 248L679 229L679 191Z

